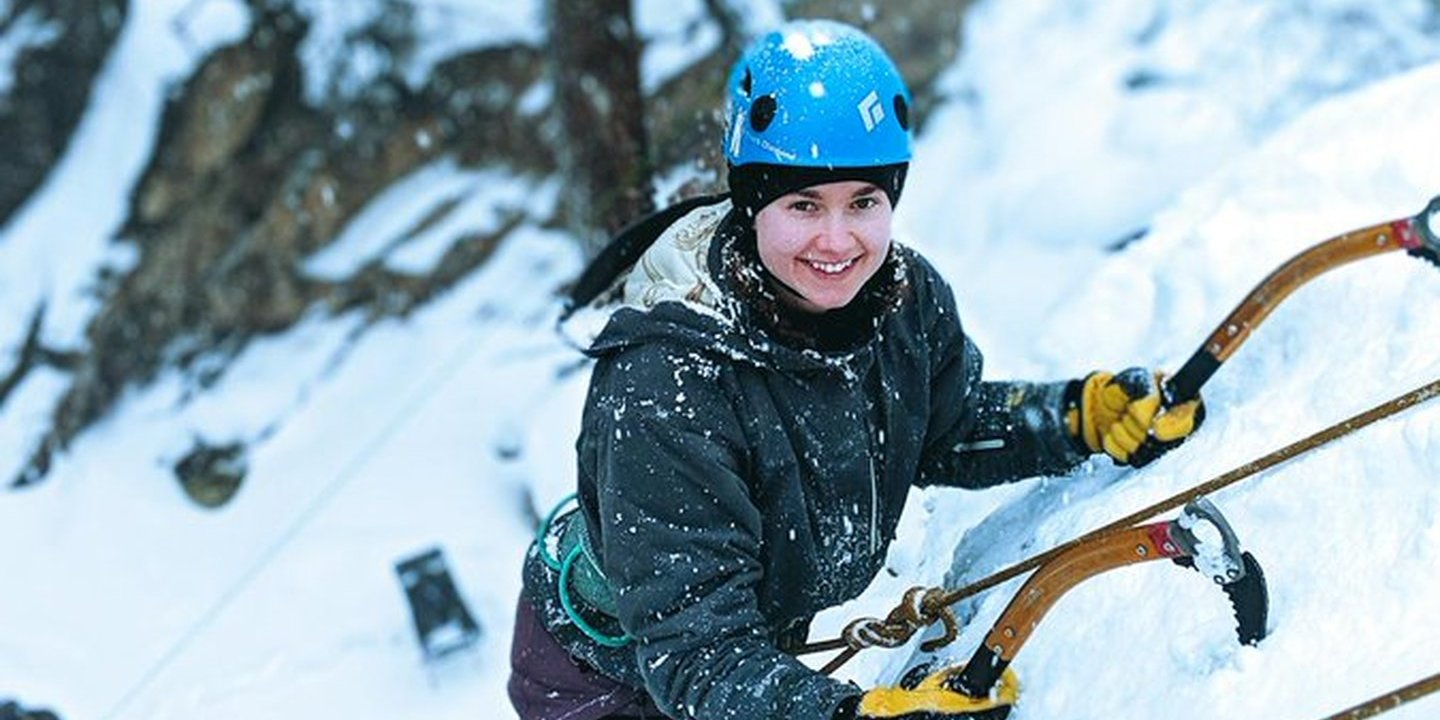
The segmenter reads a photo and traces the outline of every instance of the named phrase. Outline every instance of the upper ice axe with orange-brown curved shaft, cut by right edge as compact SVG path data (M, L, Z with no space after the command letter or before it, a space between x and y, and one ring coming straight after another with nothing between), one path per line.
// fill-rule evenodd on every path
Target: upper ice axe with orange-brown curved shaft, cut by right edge
M1341 265L1392 251L1405 251L1440 266L1440 196L1433 197L1420 215L1338 235L1276 268L1220 323L1179 372L1165 380L1164 405L1174 408L1198 397L1205 380L1296 288Z

